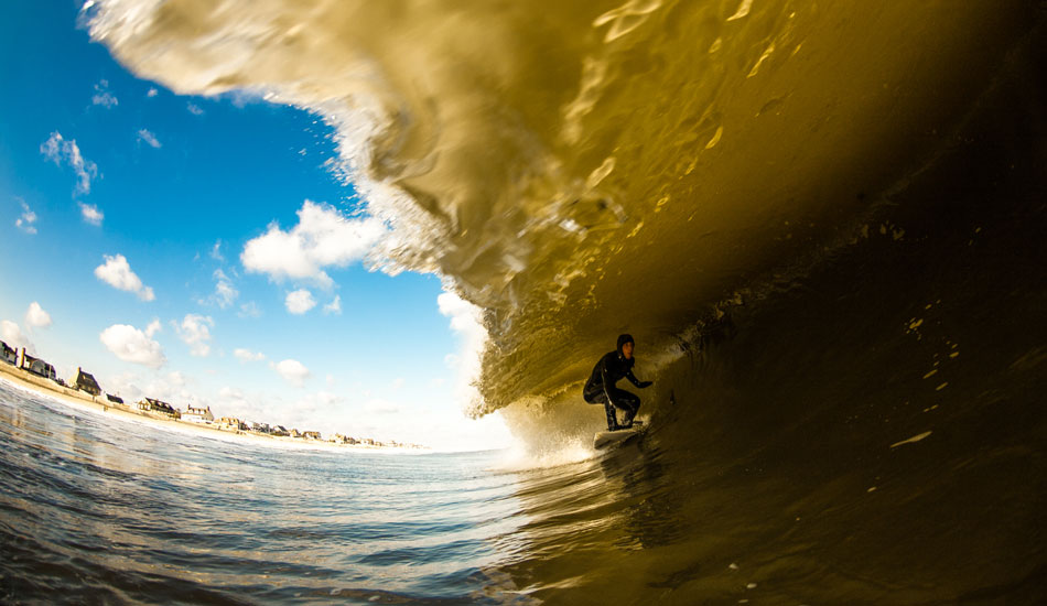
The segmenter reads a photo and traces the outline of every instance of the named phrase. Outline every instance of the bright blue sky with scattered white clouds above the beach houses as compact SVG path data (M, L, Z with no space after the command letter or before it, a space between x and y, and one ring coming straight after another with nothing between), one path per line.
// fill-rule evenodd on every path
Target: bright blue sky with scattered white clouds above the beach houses
M441 312L435 275L360 262L381 226L331 169L332 129L139 79L90 42L78 4L17 2L0 24L4 340L180 408L501 443L498 420L460 412L460 303Z

